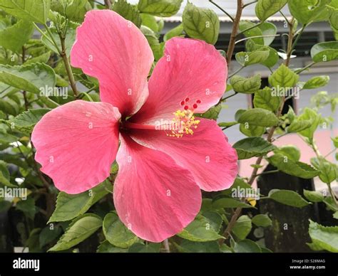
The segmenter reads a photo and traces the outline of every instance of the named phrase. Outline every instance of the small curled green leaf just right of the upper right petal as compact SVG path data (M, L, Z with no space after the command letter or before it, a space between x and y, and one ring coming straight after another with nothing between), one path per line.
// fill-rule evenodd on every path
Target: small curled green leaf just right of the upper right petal
M260 75L254 75L251 78L244 78L240 75L234 75L230 78L232 89L238 93L252 94L260 89Z

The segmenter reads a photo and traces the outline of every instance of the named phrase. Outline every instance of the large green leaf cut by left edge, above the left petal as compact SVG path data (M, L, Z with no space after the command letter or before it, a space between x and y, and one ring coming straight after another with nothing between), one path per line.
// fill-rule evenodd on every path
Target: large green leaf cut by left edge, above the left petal
M39 94L45 87L55 86L56 76L54 70L43 63L21 66L0 65L0 82Z

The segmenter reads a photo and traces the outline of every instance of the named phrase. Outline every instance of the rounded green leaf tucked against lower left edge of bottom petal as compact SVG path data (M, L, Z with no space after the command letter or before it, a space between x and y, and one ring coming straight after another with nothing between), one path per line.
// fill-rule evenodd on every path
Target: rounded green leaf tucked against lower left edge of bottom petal
M119 248L128 248L138 240L116 213L108 213L103 219L103 233L109 243Z

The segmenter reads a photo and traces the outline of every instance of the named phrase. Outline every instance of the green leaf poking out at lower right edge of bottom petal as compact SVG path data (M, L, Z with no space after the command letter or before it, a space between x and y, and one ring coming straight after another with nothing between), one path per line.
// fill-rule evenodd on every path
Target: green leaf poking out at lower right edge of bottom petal
M198 215L195 220L191 222L187 227L183 229L182 232L177 235L180 238L185 238L186 240L205 242L210 240L218 240L223 238L217 232L218 230L213 228L214 223L205 216Z

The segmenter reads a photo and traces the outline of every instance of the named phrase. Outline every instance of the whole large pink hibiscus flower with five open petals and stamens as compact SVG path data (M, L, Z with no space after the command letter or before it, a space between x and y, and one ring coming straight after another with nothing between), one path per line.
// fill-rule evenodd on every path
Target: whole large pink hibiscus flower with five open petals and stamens
M148 81L153 53L140 30L114 11L89 11L71 64L98 79L102 102L68 102L34 128L36 161L59 190L93 188L116 159L118 216L138 237L160 242L193 221L200 189L232 185L235 149L215 121L193 116L225 90L227 64L214 46L170 39Z

